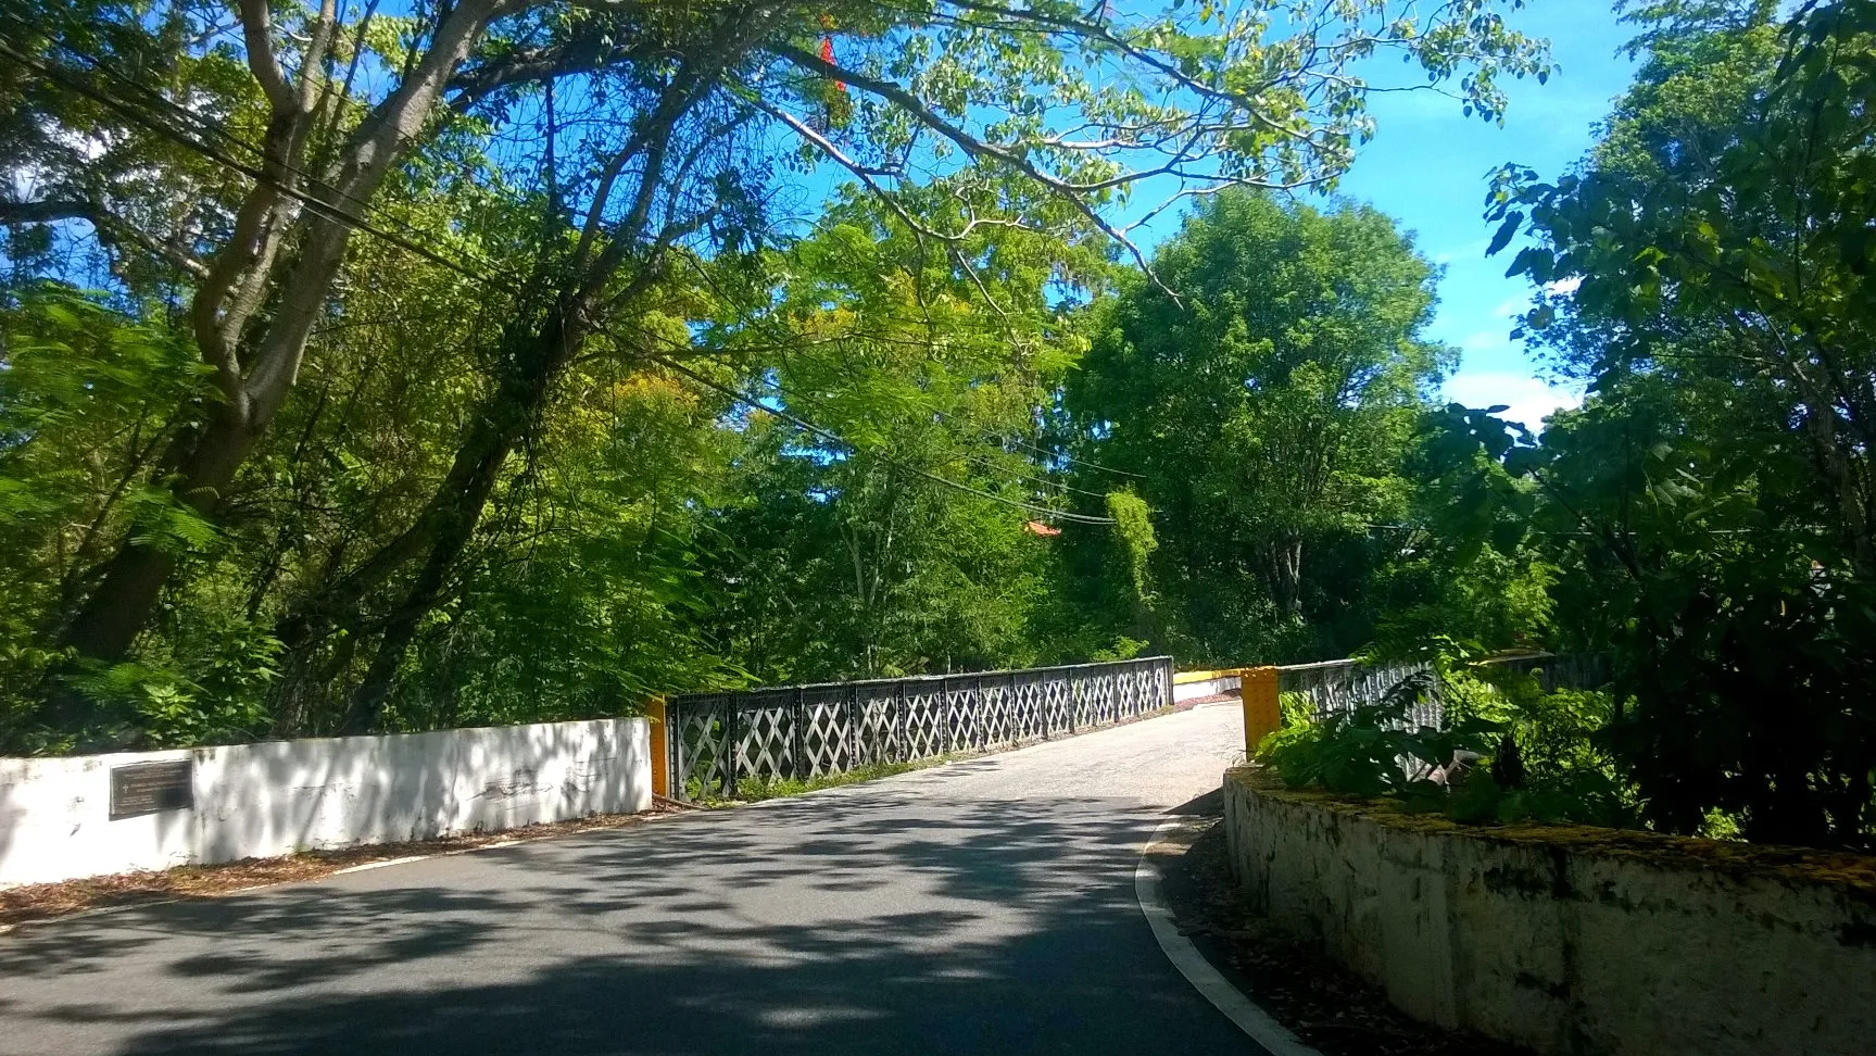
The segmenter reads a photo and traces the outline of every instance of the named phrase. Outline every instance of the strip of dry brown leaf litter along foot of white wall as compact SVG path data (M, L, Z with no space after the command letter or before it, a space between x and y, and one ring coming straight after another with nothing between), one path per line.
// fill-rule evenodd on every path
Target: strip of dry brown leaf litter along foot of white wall
M174 902L182 898L216 898L253 887L291 883L298 880L317 880L355 865L390 861L398 857L435 855L463 852L497 842L544 840L593 829L619 829L657 818L692 810L681 803L660 799L643 814L595 814L568 822L550 822L542 825L522 825L499 833L463 833L437 840L415 840L401 844L370 844L358 848L302 852L281 857L248 857L225 865L180 865L165 870L118 872L114 876L90 876L84 880L66 880L60 883L26 883L0 891L0 928L28 921L66 917L84 910L107 906L143 906L152 902Z

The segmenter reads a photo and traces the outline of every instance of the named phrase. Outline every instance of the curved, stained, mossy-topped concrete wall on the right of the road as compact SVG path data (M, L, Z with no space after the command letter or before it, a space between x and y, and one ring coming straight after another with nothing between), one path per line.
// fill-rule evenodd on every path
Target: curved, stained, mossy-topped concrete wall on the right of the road
M1233 868L1278 921L1443 1026L1572 1056L1876 1052L1876 863L1465 829L1225 775Z

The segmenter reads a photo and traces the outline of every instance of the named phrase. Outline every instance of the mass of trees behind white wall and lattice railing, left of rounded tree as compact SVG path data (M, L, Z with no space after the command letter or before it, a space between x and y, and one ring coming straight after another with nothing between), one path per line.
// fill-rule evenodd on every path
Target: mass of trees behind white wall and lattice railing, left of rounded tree
M1332 184L1377 54L1497 118L1497 6L0 8L0 743L1137 651L1114 206Z

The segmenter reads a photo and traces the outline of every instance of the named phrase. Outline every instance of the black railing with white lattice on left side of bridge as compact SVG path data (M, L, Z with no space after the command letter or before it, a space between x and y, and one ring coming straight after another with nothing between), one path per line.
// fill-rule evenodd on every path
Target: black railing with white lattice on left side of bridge
M681 694L664 701L668 788L735 797L749 780L1009 748L1171 705L1171 656Z

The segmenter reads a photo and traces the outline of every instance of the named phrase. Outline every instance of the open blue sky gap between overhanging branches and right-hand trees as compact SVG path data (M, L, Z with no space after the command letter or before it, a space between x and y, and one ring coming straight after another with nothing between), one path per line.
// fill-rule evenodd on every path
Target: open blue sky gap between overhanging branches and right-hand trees
M1463 362L1446 383L1446 398L1471 407L1508 403L1505 415L1531 426L1581 394L1551 386L1520 343L1512 315L1529 306L1525 279L1506 279L1512 251L1486 259L1491 227L1480 219L1486 173L1518 161L1557 176L1593 143L1593 126L1608 114L1634 73L1617 49L1634 36L1619 24L1610 0L1535 0L1506 19L1550 38L1559 71L1548 84L1506 83L1505 126L1461 118L1460 105L1430 92L1373 99L1377 133L1354 161L1341 193L1375 203L1416 233L1420 249L1445 264L1439 317L1430 338L1456 345Z

